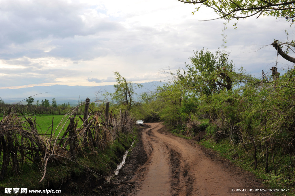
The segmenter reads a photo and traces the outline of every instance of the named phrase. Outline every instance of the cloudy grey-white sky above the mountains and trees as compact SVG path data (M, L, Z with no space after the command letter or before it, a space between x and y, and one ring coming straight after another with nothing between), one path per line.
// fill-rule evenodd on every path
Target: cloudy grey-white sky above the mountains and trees
M194 50L221 47L223 20L176 0L1 0L0 89L110 85L113 71L134 82L165 80ZM224 50L259 76L276 63L274 39L295 39L294 25L273 17L227 24ZM278 58L278 67L291 64Z

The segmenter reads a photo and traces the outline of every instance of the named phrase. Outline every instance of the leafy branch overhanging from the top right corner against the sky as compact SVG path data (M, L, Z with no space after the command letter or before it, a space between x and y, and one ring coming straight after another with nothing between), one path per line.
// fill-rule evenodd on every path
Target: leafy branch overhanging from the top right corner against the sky
M196 11L199 11L202 5L212 8L222 19L240 19L252 16L273 16L276 18L285 18L294 23L294 1L237 1L237 0L178 0L185 4L198 4ZM195 11L194 11L195 12ZM194 12L192 12L194 14Z

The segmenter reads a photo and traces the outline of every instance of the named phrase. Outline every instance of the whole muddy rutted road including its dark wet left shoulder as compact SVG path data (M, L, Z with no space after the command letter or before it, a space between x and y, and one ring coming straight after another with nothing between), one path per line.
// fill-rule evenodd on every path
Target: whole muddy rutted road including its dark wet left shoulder
M96 187L96 195L208 196L271 195L229 193L230 187L263 187L254 174L237 168L193 140L165 131L161 123L147 124L126 165L111 183Z

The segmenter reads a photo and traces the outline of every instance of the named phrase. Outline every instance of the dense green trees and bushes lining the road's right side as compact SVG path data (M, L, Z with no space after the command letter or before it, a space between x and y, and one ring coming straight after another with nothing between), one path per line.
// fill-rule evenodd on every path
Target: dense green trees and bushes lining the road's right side
M190 60L146 96L145 118L185 137L201 135L201 144L294 194L295 70L272 67L256 78L221 50L201 49Z

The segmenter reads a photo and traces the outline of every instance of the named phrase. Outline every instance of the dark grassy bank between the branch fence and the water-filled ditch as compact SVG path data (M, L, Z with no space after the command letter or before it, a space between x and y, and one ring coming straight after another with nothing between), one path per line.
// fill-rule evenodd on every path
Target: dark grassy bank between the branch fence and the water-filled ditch
M119 139L114 140L112 144L102 150L97 149L91 152L87 148L83 149L86 152L84 156L74 160L78 164L63 158L60 158L58 163L48 163L45 179L41 183L38 182L43 176L44 168L24 163L19 177L10 177L0 183L0 195L4 194L5 188L15 187L28 188L28 191L55 189L71 195L81 192L87 187L85 184L89 184L91 187L93 183L104 181L104 177L116 169L117 164L121 162L124 152L130 147L133 140L133 134L122 134ZM81 165L89 169L81 167ZM36 193L26 195L36 195Z

